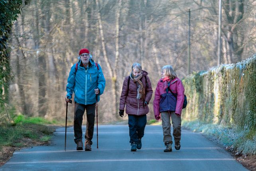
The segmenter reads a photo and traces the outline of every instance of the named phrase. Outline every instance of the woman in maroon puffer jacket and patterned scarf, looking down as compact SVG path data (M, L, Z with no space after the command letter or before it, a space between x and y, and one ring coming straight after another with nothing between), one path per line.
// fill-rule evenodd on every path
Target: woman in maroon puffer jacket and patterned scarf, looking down
M152 97L152 86L148 72L142 70L138 63L132 65L132 72L124 80L120 97L119 115L128 114L131 151L141 149L141 138L147 123L146 114L149 112L148 103Z

